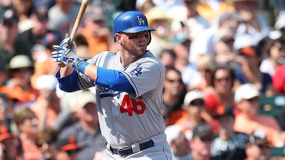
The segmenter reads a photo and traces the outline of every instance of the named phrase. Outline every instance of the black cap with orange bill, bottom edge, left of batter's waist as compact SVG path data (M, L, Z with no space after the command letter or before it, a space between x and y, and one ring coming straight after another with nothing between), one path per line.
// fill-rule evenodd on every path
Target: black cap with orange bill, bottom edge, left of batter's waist
M76 140L74 137L70 136L68 138L61 138L57 139L55 144L56 150L62 151L62 152L68 152L71 150L80 150L82 149L81 146L76 144Z

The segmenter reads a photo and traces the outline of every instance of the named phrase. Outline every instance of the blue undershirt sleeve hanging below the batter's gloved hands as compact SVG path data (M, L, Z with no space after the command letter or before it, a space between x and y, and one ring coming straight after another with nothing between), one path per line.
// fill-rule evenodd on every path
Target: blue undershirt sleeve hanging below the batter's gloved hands
M68 75L66 77L60 78L59 71L55 74L56 79L59 83L59 88L65 92L75 92L80 90L79 85L77 83L77 72L74 70L71 75Z

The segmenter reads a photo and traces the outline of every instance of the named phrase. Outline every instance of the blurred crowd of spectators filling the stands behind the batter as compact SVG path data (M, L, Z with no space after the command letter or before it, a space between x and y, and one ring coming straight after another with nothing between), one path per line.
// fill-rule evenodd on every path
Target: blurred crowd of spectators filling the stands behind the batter
M0 160L101 160L95 89L61 91L51 58L80 5L0 0ZM119 50L112 23L127 10L156 30L174 160L285 160L284 0L90 0L77 55Z

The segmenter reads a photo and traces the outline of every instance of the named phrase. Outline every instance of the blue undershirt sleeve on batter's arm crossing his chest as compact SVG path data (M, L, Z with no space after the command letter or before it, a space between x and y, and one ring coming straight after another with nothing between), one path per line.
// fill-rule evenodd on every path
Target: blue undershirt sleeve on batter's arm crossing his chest
M105 68L97 68L96 85L102 85L114 91L134 92L135 89L121 72Z

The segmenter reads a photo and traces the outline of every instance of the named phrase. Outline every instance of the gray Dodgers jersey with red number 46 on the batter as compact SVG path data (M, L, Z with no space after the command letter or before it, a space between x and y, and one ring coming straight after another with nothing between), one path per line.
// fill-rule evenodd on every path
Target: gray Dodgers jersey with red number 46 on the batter
M163 144L166 142L161 113L164 66L147 51L140 59L124 67L120 54L120 51L105 51L87 61L98 67L122 72L135 89L134 93L126 93L95 86L102 136L107 143L116 147L146 139L153 140L154 144ZM78 83L84 87L95 85L83 74L80 74Z

